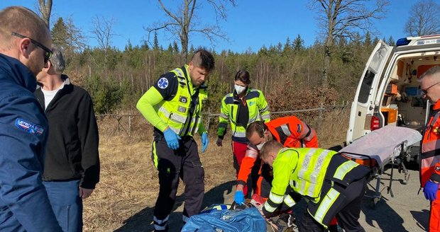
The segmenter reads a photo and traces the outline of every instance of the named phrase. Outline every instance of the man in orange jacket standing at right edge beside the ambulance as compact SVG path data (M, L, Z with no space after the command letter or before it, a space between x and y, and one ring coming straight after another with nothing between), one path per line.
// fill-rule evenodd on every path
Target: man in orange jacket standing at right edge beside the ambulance
M420 184L431 202L429 231L440 231L440 66L420 76L420 89L432 105L429 121L423 131L420 162Z

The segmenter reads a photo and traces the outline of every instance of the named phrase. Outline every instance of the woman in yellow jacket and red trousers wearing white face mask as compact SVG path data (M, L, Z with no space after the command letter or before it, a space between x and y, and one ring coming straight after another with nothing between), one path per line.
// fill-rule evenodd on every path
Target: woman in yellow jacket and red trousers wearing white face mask
M249 72L239 70L234 77L234 90L228 93L221 100L221 112L219 117L219 128L217 130L217 146L222 146L222 141L226 134L228 124L231 123L233 167L236 169L236 175L240 170L248 139L246 139L246 127L255 121L270 121L270 112L268 103L261 91L249 87L251 83ZM257 166L255 166L257 167ZM255 179L254 179L255 178ZM258 179L258 168L253 170L248 178L248 184L245 186L243 195L250 197L252 186L256 185Z

